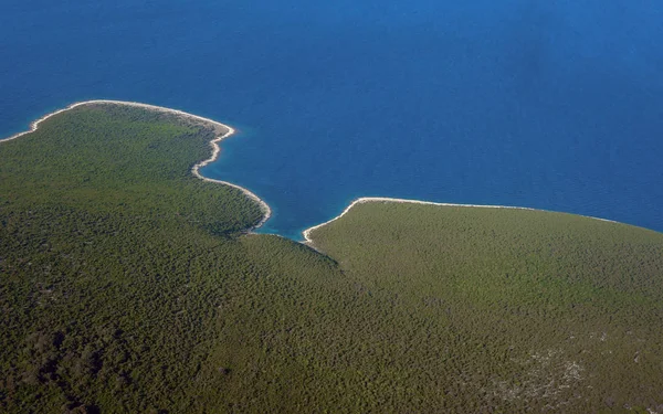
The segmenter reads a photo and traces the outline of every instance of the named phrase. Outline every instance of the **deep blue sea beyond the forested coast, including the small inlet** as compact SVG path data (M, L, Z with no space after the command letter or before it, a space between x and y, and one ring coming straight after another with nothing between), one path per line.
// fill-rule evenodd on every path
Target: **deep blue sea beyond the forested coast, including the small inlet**
M207 176L298 237L360 195L663 231L660 0L0 4L0 135L76 100L239 127Z

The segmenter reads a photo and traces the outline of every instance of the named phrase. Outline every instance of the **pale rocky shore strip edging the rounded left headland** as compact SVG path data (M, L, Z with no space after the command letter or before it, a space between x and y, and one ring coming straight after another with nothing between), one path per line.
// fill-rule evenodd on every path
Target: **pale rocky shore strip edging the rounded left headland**
M265 203L261 198L259 198L257 195L255 195L254 193L252 193L251 191L249 191L248 189L233 184L231 182L228 181L221 181L221 180L214 180L211 178L207 178L203 177L200 173L200 169L207 164L209 164L210 162L215 161L219 158L219 153L221 152L221 148L219 147L219 142L221 142L223 139L230 137L231 135L233 135L235 132L235 130L224 124L218 123L215 120L209 119L209 118L203 118L201 116L198 115L193 115L193 114L189 114L189 113L185 113L183 110L178 110L178 109L171 109L171 108L166 108L162 106L156 106L156 105L149 105L149 104L141 104L141 103L137 103L137 102L124 102L124 100L107 100L107 99L95 99L95 100L84 100L84 102L77 102L75 104L72 104L63 109L59 109L55 110L53 113L46 114L43 117L36 119L35 121L33 121L32 124L30 124L30 130L24 131L24 132L20 132L17 135L13 135L9 138L6 139L0 139L0 144L4 142L4 141L10 141L12 139L17 139L17 138L21 138L24 135L34 132L38 128L39 125L41 123L43 123L44 120L62 114L66 110L71 110L74 109L78 106L84 106L84 105L96 105L96 104L102 104L102 105L124 105L124 106L133 106L133 107L138 107L138 108L144 108L144 109L149 109L149 110L155 110L155 112L159 112L159 113L167 113L167 114L173 114L173 115L178 115L188 119L194 119L200 123L204 123L204 124L209 124L215 127L215 131L219 134L212 141L210 141L210 145L212 147L212 156L210 158L208 158L207 160L200 161L197 164L193 166L193 168L191 169L191 172L193 173L193 176L198 177L199 179L203 180L203 181L210 181L210 182L215 182L219 184L224 184L224 185L230 185L233 187L238 190L241 190L244 194L246 194L246 197L249 197L250 199L254 200L255 202L257 202L260 204L260 208L263 212L263 217L262 220L255 225L253 226L251 230L255 230L260 226L262 226L267 220L270 220L270 217L272 216L272 209L270 209L270 206L267 205L267 203Z

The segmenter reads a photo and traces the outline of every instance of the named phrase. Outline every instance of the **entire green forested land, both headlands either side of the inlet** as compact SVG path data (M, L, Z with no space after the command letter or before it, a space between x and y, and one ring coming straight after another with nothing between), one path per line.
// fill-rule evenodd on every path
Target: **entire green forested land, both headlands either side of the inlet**
M662 234L371 203L326 256L243 235L260 206L190 172L213 136L94 105L0 142L0 412L663 404Z

